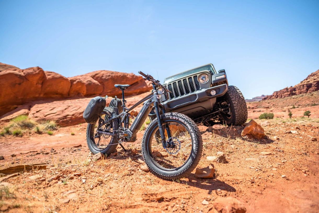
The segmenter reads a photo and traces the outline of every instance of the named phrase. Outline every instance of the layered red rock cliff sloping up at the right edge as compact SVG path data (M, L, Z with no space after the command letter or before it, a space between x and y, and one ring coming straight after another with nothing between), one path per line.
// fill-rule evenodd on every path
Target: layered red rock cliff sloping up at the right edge
M285 89L275 91L272 95L268 95L263 100L285 98L292 95L299 95L319 90L319 69L308 77L295 85L294 87L286 87Z

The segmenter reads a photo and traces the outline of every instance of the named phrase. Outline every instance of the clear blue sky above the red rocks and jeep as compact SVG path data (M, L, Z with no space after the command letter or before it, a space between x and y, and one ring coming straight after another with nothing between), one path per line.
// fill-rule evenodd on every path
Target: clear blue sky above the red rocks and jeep
M319 69L319 1L0 0L0 62L66 77L213 63L245 98ZM129 82L128 82L129 83Z

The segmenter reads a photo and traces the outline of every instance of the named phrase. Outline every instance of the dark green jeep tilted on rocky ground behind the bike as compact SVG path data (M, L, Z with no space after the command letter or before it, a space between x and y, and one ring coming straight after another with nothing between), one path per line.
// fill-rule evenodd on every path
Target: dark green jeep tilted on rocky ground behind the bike
M165 78L169 97L162 91L166 112L188 115L197 124L226 123L241 125L247 121L246 101L235 86L228 86L225 70L216 72L212 64L187 70ZM155 118L153 111L150 118Z

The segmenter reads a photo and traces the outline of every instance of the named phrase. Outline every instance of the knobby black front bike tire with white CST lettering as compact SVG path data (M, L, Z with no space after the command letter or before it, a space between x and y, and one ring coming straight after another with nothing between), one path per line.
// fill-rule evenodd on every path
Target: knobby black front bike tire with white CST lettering
M163 115L162 115L163 116ZM147 161L145 160L145 154L147 154L147 151L144 150L144 143L146 143L146 132L150 131L151 126L154 122L157 122L157 119L152 120L152 122L147 126L145 133L143 135L143 139L142 139L142 154L143 154L143 158L145 161L145 164L147 165L147 167L149 168L150 172L153 173L155 176L162 178L162 179L167 179L167 180L173 180L173 179L180 179L183 178L187 175L189 175L189 173L191 173L197 166L198 162L200 161L200 158L202 156L202 151L203 151L203 141L202 141L202 135L200 134L200 131L196 125L196 123L189 118L187 115L185 114L181 114L181 113L176 113L176 112L170 112L170 113L165 113L165 116L174 116L174 117L180 117L184 120L186 120L187 122L189 122L190 127L194 130L194 135L195 135L195 140L197 141L197 150L195 150L195 159L193 160L193 162L189 165L188 168L186 168L185 170L181 171L179 174L177 175L163 175L163 174L159 174L158 172L156 172L155 170L152 169L152 167L147 163Z

